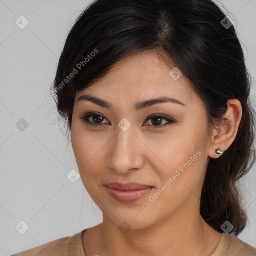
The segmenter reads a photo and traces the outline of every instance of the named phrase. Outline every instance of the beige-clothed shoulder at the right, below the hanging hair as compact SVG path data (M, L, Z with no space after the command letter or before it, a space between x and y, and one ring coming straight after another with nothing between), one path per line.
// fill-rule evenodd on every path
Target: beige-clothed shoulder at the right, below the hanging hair
M222 239L219 243L219 246L212 254L212 256L255 256L256 249L250 246L248 243L240 240L238 237L233 234L222 234Z

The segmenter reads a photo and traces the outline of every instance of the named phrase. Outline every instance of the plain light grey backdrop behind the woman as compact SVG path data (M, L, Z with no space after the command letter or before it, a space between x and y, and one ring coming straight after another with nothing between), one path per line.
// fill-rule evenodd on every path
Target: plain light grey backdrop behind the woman
M55 102L47 98L67 33L90 2L0 0L0 256L102 222L76 174ZM256 0L218 2L234 20L248 69L256 77ZM254 78L253 83L255 99ZM255 165L241 189L248 224L238 237L256 247Z

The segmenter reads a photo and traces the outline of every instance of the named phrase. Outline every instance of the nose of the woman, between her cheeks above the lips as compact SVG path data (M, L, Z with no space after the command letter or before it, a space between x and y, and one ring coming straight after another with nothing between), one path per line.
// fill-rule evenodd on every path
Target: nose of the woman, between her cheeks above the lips
M126 174L131 170L141 169L144 164L146 146L134 133L132 126L123 131L117 127L116 135L108 145L107 167L118 174Z

